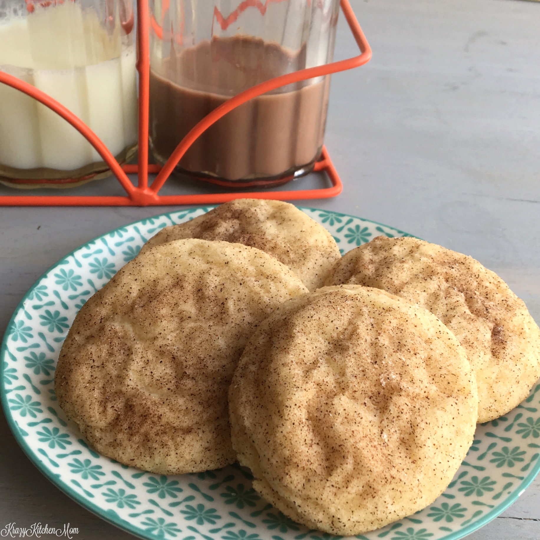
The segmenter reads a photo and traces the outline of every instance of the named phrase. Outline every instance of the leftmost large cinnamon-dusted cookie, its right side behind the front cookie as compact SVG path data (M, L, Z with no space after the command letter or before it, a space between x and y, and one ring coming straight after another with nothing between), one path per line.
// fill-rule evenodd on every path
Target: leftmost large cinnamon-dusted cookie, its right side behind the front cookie
M180 474L233 463L227 390L242 349L276 306L306 292L253 247L149 249L76 316L56 369L60 407L126 465Z

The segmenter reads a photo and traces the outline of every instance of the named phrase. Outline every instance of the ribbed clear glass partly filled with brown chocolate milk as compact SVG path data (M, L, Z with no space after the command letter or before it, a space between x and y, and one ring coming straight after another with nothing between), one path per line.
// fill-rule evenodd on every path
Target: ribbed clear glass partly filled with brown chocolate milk
M332 61L339 0L151 0L150 145L164 164L213 109L265 80ZM313 169L330 78L281 87L212 125L177 170L228 187Z

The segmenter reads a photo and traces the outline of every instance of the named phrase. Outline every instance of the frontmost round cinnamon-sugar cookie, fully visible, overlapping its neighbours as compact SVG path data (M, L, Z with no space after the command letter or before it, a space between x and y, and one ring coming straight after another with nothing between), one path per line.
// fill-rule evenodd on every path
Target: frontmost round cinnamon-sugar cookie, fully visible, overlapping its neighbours
M440 320L355 285L276 309L229 390L233 447L253 487L337 535L433 502L473 441L477 405L467 355Z

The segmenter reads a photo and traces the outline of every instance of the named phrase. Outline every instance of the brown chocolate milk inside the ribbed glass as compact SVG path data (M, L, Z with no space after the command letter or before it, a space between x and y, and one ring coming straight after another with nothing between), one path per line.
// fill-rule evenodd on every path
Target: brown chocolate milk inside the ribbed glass
M249 87L305 67L276 43L246 36L213 38L163 60L150 72L150 144L164 163L206 114ZM319 158L329 77L252 99L218 120L187 151L179 168L225 181L279 180ZM306 85L307 84L307 85Z

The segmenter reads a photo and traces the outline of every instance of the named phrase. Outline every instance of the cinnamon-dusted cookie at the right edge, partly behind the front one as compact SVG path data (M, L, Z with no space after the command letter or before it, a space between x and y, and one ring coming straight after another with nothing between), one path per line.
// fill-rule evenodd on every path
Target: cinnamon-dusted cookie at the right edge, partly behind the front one
M416 238L377 237L336 263L326 285L377 287L429 309L456 335L478 384L478 422L508 413L540 377L540 330L480 262Z

